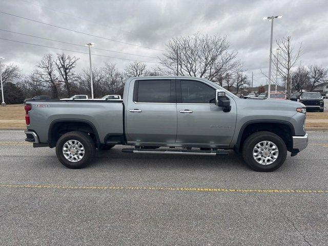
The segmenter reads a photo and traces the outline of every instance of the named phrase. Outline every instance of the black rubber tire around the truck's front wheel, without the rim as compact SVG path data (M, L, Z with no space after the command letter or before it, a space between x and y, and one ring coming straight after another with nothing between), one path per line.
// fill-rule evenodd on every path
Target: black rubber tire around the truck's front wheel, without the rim
M258 163L253 157L254 147L261 141L271 141L278 148L277 159L269 164L262 165ZM284 141L277 134L267 131L260 131L250 135L243 143L242 157L244 161L255 171L258 172L271 172L281 167L286 159L287 148Z

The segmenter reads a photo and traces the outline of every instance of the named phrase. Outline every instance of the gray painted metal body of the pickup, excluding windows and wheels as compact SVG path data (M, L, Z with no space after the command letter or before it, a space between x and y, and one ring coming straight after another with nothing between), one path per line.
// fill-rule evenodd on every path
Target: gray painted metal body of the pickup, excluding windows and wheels
M54 120L81 119L94 126L101 144L107 134L114 133L125 134L127 145L234 148L239 132L249 122L279 120L293 126L294 136L305 136L305 114L296 112L296 108L304 107L301 103L242 99L227 90L224 91L230 99L230 112L223 112L214 104L135 103L133 90L137 79L198 80L213 89L224 90L203 78L128 78L122 103L100 100L29 102L32 105L31 124L27 129L34 130L40 142L47 142L48 130ZM47 107L36 106L40 104Z

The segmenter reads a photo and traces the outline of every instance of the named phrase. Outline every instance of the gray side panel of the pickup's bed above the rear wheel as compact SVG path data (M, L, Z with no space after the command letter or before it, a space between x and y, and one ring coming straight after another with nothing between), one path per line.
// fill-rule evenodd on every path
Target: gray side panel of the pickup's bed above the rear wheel
M104 144L107 134L123 134L123 109L121 101L101 100L47 100L28 101L28 130L37 133L40 142L48 142L48 132L56 122L83 120L96 129L99 141Z

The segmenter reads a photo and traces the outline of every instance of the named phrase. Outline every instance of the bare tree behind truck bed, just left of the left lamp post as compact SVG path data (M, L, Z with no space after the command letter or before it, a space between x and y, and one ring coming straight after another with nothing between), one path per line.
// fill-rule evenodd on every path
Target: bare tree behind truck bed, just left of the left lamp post
M64 53L57 54L55 64L59 73L59 81L64 84L67 95L71 96L72 84L76 81L76 74L74 68L76 67L77 60L75 56L66 55Z

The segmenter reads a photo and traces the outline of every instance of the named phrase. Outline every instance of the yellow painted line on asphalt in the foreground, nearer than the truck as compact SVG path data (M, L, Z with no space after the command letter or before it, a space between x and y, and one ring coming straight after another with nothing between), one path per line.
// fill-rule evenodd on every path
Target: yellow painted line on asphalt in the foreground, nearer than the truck
M150 191L189 191L222 193L328 193L328 190L279 190L279 189L222 189L186 187L130 187L130 186L54 186L54 185L0 185L0 188L37 188L37 189L80 189L80 190L150 190Z

